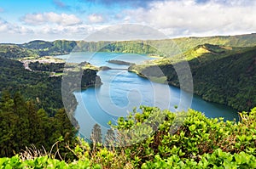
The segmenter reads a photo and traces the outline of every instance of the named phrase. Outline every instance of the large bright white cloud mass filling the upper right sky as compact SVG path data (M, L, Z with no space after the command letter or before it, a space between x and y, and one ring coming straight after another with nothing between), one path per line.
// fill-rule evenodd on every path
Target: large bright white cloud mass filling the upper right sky
M151 25L167 35L232 34L256 30L256 3L245 1L196 3L195 0L151 3L150 8L127 10L130 21Z

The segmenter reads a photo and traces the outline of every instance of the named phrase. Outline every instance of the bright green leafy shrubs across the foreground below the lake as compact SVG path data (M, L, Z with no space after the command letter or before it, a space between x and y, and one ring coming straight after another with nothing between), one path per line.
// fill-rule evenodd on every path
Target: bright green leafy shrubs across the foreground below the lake
M50 155L15 155L0 159L0 164L3 168L256 167L256 108L240 113L238 122L208 119L195 110L172 113L144 106L141 109L143 113L134 111L112 126L117 137L111 143L117 147L104 146L99 139L88 144L78 138L73 147L67 146L77 157L74 161L59 161ZM175 129L177 119L183 121ZM94 133L100 130L96 126Z

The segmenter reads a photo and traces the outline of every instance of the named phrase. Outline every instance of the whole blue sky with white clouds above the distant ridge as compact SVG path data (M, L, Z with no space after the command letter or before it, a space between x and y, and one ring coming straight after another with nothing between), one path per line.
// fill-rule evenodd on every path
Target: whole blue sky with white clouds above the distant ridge
M171 38L253 33L255 9L255 0L0 0L0 42L83 40L128 23Z

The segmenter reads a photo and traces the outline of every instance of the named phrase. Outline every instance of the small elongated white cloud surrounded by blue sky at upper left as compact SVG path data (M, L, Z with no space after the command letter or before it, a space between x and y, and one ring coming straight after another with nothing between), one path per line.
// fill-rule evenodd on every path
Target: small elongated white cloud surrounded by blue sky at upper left
M79 25L82 21L74 14L56 14L53 12L43 14L26 14L21 20L28 25Z

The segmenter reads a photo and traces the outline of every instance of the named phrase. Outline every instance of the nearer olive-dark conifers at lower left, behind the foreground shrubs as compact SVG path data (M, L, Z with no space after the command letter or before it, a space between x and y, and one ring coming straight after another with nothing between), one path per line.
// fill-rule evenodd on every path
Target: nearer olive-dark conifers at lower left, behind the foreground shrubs
M49 116L44 109L39 109L35 100L28 100L20 93L11 95L2 92L0 101L0 156L12 156L26 150L32 144L43 152L50 151L59 138L61 155L70 154L65 150L65 143L73 143L75 128L67 118L64 109Z

